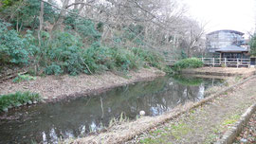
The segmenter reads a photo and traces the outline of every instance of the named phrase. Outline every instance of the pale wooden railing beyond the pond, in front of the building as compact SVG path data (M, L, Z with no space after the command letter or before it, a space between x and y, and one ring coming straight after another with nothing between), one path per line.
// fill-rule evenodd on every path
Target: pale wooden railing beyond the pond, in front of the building
M228 59L228 58L199 58L205 66L213 67L250 67L250 59ZM166 60L166 64L173 66L176 60Z

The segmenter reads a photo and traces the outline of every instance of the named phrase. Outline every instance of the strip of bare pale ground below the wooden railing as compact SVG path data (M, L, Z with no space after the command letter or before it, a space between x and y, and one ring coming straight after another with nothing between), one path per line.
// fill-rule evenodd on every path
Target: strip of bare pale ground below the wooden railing
M251 76L254 75L256 69L250 68L233 68L233 67L200 67L182 70L183 74L200 74L200 75L214 75L214 76Z

